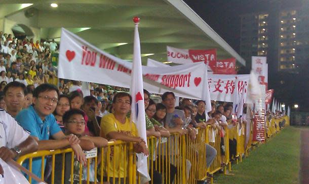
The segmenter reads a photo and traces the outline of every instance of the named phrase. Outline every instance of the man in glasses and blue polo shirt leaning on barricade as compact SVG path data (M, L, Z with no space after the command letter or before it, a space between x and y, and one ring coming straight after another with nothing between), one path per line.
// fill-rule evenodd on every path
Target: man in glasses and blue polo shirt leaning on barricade
M52 114L57 106L58 94L59 91L54 85L42 84L36 87L33 91L33 105L20 111L16 119L24 129L31 132L31 136L38 142L38 150L55 150L70 146L76 158L86 163L81 146L90 150L94 147L93 143L81 141L72 134L68 136L63 134ZM49 140L50 136L54 140ZM32 173L38 177L41 177L41 163L41 158L35 158L32 161ZM28 163L25 163L25 166L27 167ZM35 182L32 181L32 183Z

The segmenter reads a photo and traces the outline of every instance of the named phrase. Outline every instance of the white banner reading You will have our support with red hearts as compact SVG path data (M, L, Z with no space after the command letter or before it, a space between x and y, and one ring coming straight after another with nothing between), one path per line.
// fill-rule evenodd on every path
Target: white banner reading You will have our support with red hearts
M108 54L62 28L58 77L130 88L132 63ZM176 96L210 104L206 65L142 66L143 86L151 93L172 91Z

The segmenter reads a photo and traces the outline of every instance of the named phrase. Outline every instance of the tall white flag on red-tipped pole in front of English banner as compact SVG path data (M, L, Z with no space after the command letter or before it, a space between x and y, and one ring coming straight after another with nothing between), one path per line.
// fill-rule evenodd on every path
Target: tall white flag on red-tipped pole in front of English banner
M143 75L142 75L142 61L140 55L138 23L135 23L135 29L134 29L133 67L131 73L130 94L132 96L131 120L136 124L139 137L143 138L146 141L147 137L146 137L146 120L144 110L145 105L144 105L144 92L143 92ZM147 167L147 157L143 153L137 154L137 170L150 180Z

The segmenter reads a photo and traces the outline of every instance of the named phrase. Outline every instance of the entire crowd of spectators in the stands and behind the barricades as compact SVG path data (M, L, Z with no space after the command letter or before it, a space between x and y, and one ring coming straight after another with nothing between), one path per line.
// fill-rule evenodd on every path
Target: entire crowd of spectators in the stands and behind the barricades
M0 41L0 108L4 109L0 110L0 115L3 116L1 120L4 129L14 129L13 135L18 135L12 138L14 144L3 145L8 148L7 153L11 154L2 154L2 148L0 149L1 158L7 160L36 150L70 147L75 154L74 167L79 168L79 164L86 163L83 150L106 147L107 141L114 140L134 143L137 153L153 153L156 145L147 147L146 140L138 136L134 122L130 121L132 98L127 93L128 89L111 89L109 86L90 83L90 95L84 96L79 81L60 79L56 87L49 84L49 79L57 76L57 70L51 63L51 53L58 48L54 40L34 43L33 39L18 40L10 34L0 32ZM241 128L243 124L249 126L250 118L253 117L253 112L247 111L245 107L243 116L235 120L232 114L233 106L226 102L212 101L211 111L205 113L206 103L202 100L183 98L177 106L173 92L164 93L161 99L162 102L156 103L152 95L144 90L147 137L169 138L177 133L187 134L191 140L195 140L198 128L206 129L211 126L221 136L221 164L224 164L224 128ZM10 121L10 125L7 121ZM0 131L0 134L2 133ZM12 134L8 131L6 133ZM12 135L7 136L7 139L9 137ZM230 159L237 156L236 145L235 139L229 140ZM205 144L205 149L208 168L218 150L210 144ZM123 158L118 157L120 151L114 150L115 154L110 157L117 159L115 168L123 173L126 163ZM161 160L164 160L164 157ZM32 172L38 177L41 177L41 163L41 158L35 158L32 162ZM25 162L24 166L29 168L28 164ZM66 164L70 166L69 163ZM47 161L47 180L50 176L49 166ZM186 160L186 178L189 178L190 166L190 161ZM96 180L94 167L94 164L90 167L89 177L92 182ZM113 169L112 165L109 168L104 166L104 173L113 173ZM153 183L162 183L162 174L155 168L149 170L153 173ZM79 169L76 173L75 171L74 169L74 183L87 179L87 167L84 167L82 178L79 178ZM172 183L176 173L177 165L170 164L169 173L165 174L165 177L169 175ZM116 174L113 176L125 177L123 174L118 175L118 172ZM66 173L65 177L65 182L69 182L70 172ZM104 180L107 178L104 177Z

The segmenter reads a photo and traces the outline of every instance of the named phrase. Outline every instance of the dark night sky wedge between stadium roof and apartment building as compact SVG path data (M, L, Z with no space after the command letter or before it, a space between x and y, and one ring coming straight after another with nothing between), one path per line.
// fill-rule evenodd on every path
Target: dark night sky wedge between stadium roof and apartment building
M240 15L268 10L270 4L297 7L300 0L184 0L234 50L240 53Z

